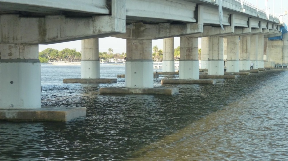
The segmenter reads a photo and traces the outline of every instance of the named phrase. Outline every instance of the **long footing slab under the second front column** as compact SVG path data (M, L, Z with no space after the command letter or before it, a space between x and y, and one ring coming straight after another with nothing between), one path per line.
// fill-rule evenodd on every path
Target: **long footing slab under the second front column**
M173 95L179 93L178 88L125 88L105 87L100 88L100 94L156 94Z

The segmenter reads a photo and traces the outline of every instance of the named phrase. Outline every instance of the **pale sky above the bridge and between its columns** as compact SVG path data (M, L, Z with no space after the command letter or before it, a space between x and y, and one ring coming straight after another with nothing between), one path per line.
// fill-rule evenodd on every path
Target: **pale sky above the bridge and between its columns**
M266 1L268 1L267 4L269 8L269 13L273 14L273 11L274 11L275 17L278 17L280 14L282 14L281 11L284 12L285 10L288 10L287 0L246 0L246 2L251 3L255 6L257 6L257 1L258 1L258 7L262 9L265 9L265 3ZM281 6L283 6L283 8L281 8ZM287 24L288 15L284 16L284 22ZM199 43L200 42L201 41L199 41ZM158 46L158 49L163 49L163 39L152 40L152 46L156 46L156 45ZM180 46L180 38L175 37L174 48L177 48L178 46ZM63 42L63 43L58 43L58 44L39 45L39 51L43 51L46 48L53 48L59 51L65 48L69 48L69 49L76 49L76 51L81 51L81 40ZM113 49L113 53L126 52L126 40L120 39L120 38L113 38L113 37L99 38L99 51L108 52L109 48Z

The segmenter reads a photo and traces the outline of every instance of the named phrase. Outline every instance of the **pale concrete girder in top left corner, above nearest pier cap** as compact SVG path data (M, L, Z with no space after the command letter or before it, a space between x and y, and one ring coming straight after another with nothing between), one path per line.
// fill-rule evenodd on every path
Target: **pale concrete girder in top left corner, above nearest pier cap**
M106 0L0 0L1 8L18 11L59 14L59 11L73 11L93 14L109 14ZM53 9L52 9L53 8Z

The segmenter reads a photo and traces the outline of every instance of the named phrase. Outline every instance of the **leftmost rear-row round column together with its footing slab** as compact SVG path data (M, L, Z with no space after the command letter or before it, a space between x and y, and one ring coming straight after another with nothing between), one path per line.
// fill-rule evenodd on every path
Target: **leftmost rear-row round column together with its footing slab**
M117 78L100 78L99 39L85 39L81 43L81 78L63 79L63 83L116 83Z

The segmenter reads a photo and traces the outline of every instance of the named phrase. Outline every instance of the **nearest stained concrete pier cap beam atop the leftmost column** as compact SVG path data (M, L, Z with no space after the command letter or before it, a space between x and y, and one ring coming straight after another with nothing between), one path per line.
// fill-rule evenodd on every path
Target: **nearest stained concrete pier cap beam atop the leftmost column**
M1 15L0 21L0 43L53 44L125 32L125 19L113 18L110 15L92 18L66 18L64 15L27 18Z

